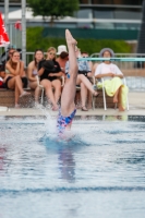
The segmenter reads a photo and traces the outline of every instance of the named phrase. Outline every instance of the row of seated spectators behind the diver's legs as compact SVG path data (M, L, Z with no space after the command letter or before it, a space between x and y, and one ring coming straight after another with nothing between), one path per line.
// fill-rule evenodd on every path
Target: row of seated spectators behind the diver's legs
M123 74L119 68L110 61L93 64L92 61L85 60L89 57L88 52L82 51L75 47L78 72L76 80L76 107L83 111L92 108L92 96L98 96L97 88L102 88L101 78L105 78L106 93L113 97L113 102L119 104L119 110L125 109L125 96L128 87L122 84ZM100 57L109 58L114 53L111 49L105 48L100 51ZM78 60L84 58L84 60ZM37 49L34 53L34 60L24 70L24 62L21 60L21 53L10 48L8 58L3 61L0 70L0 87L14 89L15 92L15 108L19 108L19 99L31 95L27 87L35 90L35 107L40 107L39 96L40 86L44 87L48 101L48 107L51 105L52 110L58 110L59 99L62 92L62 80L69 80L69 53L65 46L59 46L58 51L55 47L47 50L44 55L41 49ZM92 78L100 81L97 86L93 85ZM112 88L113 87L113 88ZM81 98L80 98L81 96ZM81 102L81 104L80 104Z

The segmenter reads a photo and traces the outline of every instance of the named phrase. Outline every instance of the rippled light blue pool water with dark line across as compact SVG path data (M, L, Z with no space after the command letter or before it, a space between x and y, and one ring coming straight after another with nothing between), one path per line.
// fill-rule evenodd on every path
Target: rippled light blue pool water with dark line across
M145 117L0 117L0 218L145 216ZM49 129L50 131L50 129Z

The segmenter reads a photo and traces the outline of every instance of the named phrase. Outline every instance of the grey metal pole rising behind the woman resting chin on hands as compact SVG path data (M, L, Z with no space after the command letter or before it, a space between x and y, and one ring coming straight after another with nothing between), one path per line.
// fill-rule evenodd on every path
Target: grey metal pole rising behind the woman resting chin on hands
M22 60L24 65L26 65L26 17L25 17L25 8L26 0L21 0L22 3Z

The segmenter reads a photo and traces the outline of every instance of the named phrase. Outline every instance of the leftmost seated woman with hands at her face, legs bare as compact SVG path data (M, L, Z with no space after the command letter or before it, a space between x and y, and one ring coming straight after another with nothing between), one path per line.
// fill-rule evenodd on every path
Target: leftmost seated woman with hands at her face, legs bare
M23 89L23 82L26 83L24 62L20 60L20 52L14 51L5 63L4 87L15 90L15 108L19 108L19 98L31 95Z

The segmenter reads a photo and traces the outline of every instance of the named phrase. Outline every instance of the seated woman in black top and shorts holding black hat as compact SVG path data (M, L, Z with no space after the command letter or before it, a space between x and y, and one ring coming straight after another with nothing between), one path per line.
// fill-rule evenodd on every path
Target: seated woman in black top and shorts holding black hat
M51 60L55 70L47 69L47 61ZM45 87L46 96L52 104L52 110L58 110L58 100L61 95L61 81L60 76L63 75L59 63L56 61L56 48L50 47L47 51L46 60L38 64L38 74L40 76L40 85ZM55 92L53 92L53 89Z

